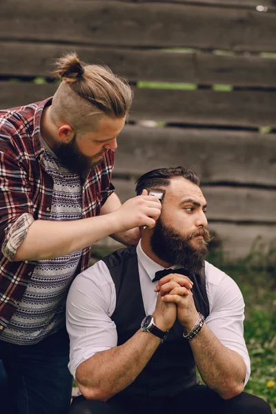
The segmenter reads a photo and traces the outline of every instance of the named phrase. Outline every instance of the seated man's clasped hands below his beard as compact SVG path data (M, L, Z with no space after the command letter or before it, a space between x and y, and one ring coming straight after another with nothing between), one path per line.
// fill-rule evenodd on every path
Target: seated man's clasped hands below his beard
M193 299L193 282L184 275L170 273L162 277L155 292L158 293L157 305L155 308L155 323L158 328L167 331L178 319L186 331L190 331L199 313Z

